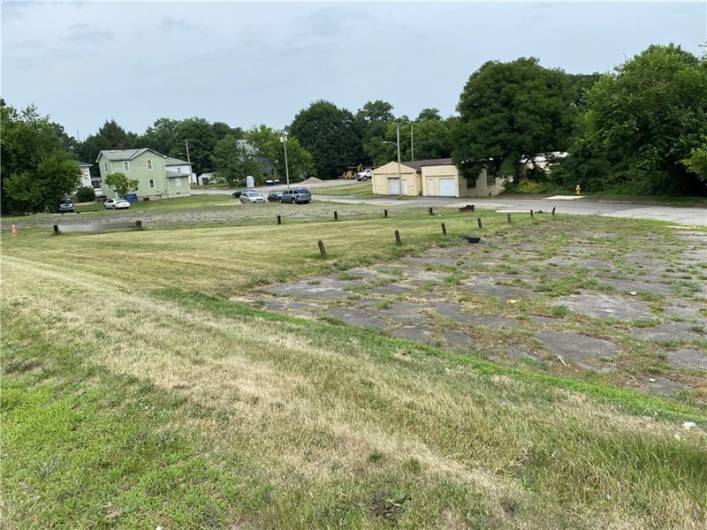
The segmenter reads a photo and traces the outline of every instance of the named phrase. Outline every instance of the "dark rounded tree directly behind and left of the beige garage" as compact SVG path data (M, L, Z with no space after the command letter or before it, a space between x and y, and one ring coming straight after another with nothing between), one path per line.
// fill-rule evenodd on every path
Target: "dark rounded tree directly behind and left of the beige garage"
M333 103L316 101L301 110L290 132L314 157L320 178L335 178L363 158L360 132L353 114Z

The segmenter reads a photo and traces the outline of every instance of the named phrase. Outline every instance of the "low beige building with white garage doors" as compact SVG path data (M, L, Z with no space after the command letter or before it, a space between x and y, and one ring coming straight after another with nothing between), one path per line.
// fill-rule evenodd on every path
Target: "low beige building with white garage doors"
M430 197L489 197L503 191L505 179L489 177L485 170L476 179L459 174L451 158L388 162L373 170L376 195Z

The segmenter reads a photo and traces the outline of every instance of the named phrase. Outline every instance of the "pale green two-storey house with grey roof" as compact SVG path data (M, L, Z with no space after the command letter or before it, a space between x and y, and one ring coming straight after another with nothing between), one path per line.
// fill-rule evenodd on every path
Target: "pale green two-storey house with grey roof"
M134 192L140 199L168 199L191 195L191 164L170 158L154 149L118 149L101 151L96 163L100 168L103 192L114 197L115 190L105 184L111 173L123 173L138 181Z

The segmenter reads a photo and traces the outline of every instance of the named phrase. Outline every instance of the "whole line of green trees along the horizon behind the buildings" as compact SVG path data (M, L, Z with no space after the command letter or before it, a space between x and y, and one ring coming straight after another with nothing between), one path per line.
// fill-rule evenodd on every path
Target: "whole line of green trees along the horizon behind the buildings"
M355 113L315 101L287 127L290 174L328 179L394 160L399 128L403 160L413 150L416 159L451 157L463 174L486 169L512 176L514 186L707 194L707 59L679 46L650 46L607 74L570 74L532 57L489 61L471 74L456 110L443 117L424 108L409 118L382 100ZM136 134L109 120L78 141L36 108L3 102L2 128L4 211L51 208L70 190L72 160L93 163L103 149L150 147L186 158L188 141L198 174L235 184L262 171L263 160L273 177L285 173L281 131L267 125L160 118ZM540 153L563 156L546 172L528 164Z

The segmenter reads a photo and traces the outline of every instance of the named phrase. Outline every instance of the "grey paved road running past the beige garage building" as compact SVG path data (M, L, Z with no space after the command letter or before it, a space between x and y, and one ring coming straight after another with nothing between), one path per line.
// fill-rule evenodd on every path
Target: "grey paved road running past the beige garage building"
M325 183L326 182L326 183ZM419 197L407 199L395 198L360 198L334 195L317 195L317 187L341 185L340 181L325 181L319 185L308 186L313 192L313 198L318 201L330 201L348 204L373 204L378 206L410 208L436 207L459 208L466 204L474 204L479 208L493 209L503 212L550 211L553 207L560 213L572 215L598 215L600 217L620 217L626 219L651 219L667 221L679 225L707 226L707 208L658 206L635 204L619 201L600 201L588 198L568 200L554 198L523 198L523 197L493 197L467 198L458 197ZM259 188L265 192L275 187ZM230 194L233 190L194 190L193 194Z

